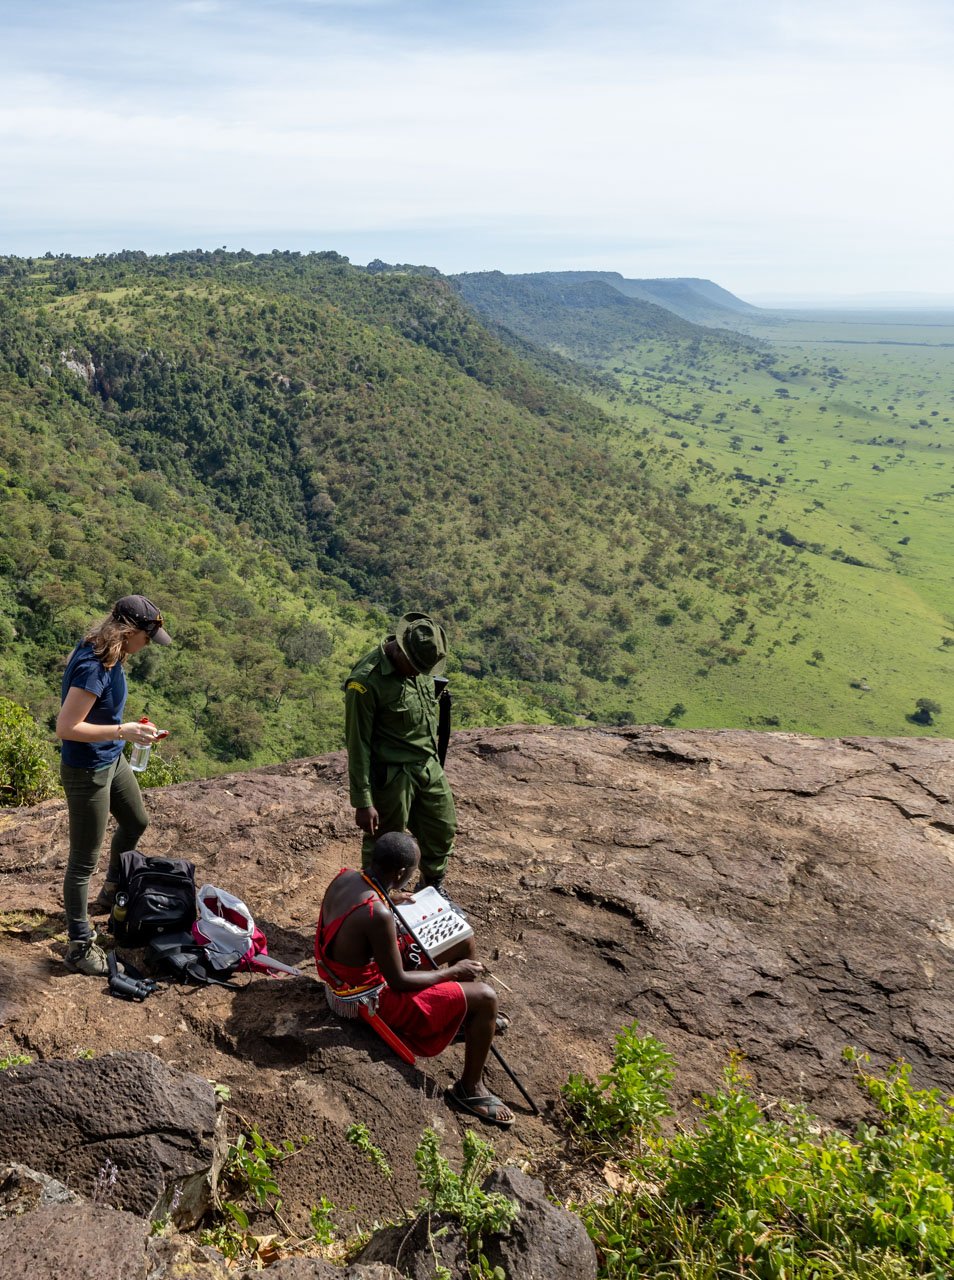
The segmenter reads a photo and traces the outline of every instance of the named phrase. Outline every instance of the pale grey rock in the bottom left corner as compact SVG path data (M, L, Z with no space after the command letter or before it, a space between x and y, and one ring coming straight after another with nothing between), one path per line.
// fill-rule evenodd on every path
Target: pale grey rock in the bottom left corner
M44 1204L0 1222L5 1276L142 1280L149 1222L101 1204Z

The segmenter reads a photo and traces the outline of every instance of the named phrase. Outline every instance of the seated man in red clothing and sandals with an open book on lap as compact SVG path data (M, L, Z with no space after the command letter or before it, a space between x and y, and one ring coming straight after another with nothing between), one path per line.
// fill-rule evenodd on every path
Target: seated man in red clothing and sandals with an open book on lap
M480 982L484 966L474 957L474 940L446 954L447 968L405 968L394 916L375 886L398 893L419 860L414 838L392 831L375 841L366 874L338 872L321 902L315 964L333 991L387 983L378 996L378 1014L421 1057L442 1053L462 1025L464 1071L451 1101L485 1124L510 1129L513 1114L484 1084L497 1029L497 992Z

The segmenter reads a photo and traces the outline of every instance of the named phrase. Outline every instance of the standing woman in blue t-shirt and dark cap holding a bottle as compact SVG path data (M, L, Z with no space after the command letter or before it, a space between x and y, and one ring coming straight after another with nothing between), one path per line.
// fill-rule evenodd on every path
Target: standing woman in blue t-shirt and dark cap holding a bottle
M125 742L152 742L151 722L123 722L125 671L132 653L150 641L169 644L163 614L145 595L124 595L110 614L76 646L63 676L63 705L56 736L63 741L60 781L69 810L69 861L63 882L67 908L67 966L76 973L106 973L106 956L90 928L90 877L100 860L110 813L117 829L109 851L106 883L97 906L109 910L117 891L119 855L136 844L149 824L140 785L123 755Z

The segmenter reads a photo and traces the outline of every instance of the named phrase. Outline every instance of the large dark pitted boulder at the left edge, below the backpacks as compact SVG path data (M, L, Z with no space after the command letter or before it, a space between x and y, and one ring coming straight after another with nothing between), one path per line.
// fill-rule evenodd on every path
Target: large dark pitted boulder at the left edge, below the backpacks
M151 1053L0 1073L0 1161L26 1157L101 1204L193 1226L224 1155L213 1087Z

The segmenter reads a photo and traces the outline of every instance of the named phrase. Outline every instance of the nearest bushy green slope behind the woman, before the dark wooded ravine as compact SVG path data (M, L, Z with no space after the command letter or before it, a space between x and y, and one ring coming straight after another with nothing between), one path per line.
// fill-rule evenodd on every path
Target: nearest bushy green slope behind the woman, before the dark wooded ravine
M86 356L60 344L58 323L3 303L0 337L4 692L49 728L68 649L109 602L142 590L175 644L131 664L131 710L173 730L187 772L338 746L341 681L385 614L350 603L339 580L293 571L187 471L175 485L141 467L105 429ZM455 685L465 722L542 714L506 681Z

